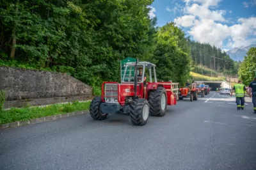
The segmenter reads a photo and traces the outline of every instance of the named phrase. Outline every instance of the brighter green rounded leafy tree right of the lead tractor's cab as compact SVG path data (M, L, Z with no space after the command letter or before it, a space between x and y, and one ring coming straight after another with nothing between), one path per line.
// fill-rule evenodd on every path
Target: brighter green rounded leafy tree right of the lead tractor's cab
M157 30L157 47L154 59L157 77L162 81L183 84L189 75L191 58L184 32L170 22Z

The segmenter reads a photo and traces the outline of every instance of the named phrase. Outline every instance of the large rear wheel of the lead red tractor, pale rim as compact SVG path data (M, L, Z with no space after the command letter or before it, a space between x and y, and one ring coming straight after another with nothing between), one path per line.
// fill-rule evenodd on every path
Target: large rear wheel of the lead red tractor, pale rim
M164 116L167 109L166 89L159 86L155 91L150 91L148 103L150 116Z

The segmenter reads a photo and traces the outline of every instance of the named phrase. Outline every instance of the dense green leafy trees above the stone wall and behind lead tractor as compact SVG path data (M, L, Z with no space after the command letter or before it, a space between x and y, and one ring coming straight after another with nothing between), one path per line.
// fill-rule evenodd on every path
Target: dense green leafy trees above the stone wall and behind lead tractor
M152 61L163 81L189 76L185 35L157 28L153 0L14 1L0 3L0 65L68 72L92 86L119 81L120 61Z

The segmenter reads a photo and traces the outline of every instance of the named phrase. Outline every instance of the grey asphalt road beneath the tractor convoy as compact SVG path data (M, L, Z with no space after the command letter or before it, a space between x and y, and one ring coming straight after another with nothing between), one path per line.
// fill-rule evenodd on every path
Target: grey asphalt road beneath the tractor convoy
M143 127L86 114L0 130L0 169L256 169L256 114L211 92Z

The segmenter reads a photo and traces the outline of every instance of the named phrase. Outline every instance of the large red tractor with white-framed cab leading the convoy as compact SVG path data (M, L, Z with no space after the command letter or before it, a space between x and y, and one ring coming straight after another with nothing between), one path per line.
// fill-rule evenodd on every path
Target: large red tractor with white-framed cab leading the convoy
M139 68L142 68L141 77ZM146 68L150 80L147 83L143 82ZM129 114L133 125L143 126L149 116L164 116L167 105L176 105L179 98L173 84L177 83L157 82L156 65L137 59L136 62L127 62L124 70L121 84L102 83L101 97L93 98L90 105L90 115L94 120L106 120L109 114Z

